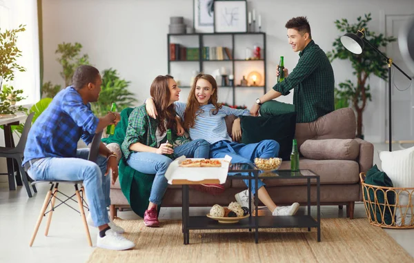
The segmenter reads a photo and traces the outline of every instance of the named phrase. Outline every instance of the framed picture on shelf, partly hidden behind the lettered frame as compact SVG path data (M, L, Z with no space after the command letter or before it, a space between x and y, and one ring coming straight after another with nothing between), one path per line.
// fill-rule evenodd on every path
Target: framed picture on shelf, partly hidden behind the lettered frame
M197 33L214 32L214 0L193 0L194 29Z

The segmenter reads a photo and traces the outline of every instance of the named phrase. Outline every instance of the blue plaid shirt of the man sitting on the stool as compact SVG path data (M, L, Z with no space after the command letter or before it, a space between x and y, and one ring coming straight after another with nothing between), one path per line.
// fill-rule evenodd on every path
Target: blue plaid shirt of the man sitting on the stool
M23 165L35 158L75 157L77 142L90 144L98 122L75 88L61 90L30 129Z

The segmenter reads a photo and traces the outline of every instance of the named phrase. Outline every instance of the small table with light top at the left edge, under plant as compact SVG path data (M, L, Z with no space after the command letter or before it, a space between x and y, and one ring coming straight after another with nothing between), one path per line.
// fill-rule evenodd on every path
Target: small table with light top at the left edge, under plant
M14 140L12 134L12 125L19 125L20 121L26 119L28 116L25 114L17 114L15 117L0 118L0 126L4 127L4 144L6 147L14 147ZM13 159L7 158L7 175L9 182L9 190L16 190L16 184L14 184L14 171L17 171L19 174L19 168L14 170L14 166L18 166L17 162ZM20 176L16 177L16 182L18 186L23 185L21 182Z

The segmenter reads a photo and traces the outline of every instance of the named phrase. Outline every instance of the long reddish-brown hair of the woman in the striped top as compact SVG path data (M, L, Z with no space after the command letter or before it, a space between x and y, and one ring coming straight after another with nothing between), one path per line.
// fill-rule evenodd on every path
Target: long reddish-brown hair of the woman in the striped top
M213 104L215 106L215 109L212 110L213 115L216 115L221 108L221 104L217 103L217 82L212 75L200 73L197 77L195 77L193 86L191 86L190 95L188 95L186 111L184 112L184 128L186 129L193 128L195 119L203 112L201 110L200 113L196 115L197 110L199 110L200 107L197 97L195 97L195 88L199 79L206 79L206 81L210 82L211 87L213 88L213 94L210 99L208 99L208 104Z

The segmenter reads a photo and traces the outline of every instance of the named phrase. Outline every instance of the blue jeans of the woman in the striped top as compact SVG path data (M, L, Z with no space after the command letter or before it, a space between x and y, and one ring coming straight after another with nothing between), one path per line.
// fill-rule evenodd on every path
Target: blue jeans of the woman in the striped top
M211 158L224 158L226 155L232 157L231 162L235 163L250 163L255 162L256 157L268 158L277 157L279 154L279 144L273 139L265 139L257 144L239 144L237 142L219 141L210 146ZM240 173L248 176L248 173ZM235 175L229 173L228 175ZM248 180L243 180L248 186ZM257 181L257 189L264 186L262 180ZM252 180L251 189L253 195L255 194L255 181Z

